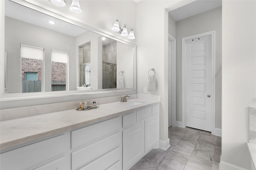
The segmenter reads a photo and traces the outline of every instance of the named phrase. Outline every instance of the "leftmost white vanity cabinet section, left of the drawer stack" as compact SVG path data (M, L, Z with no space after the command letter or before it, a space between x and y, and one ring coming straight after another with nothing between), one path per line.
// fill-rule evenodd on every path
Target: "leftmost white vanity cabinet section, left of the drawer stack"
M58 170L70 167L68 134L1 153L1 170Z

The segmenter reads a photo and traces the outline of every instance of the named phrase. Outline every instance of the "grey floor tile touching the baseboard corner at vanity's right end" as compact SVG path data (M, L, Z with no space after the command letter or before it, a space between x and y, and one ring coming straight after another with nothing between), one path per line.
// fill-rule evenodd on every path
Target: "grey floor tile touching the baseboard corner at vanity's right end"
M144 156L144 158L160 164L164 160L164 158L170 153L170 151L170 149L152 149L150 152L148 152L148 154Z

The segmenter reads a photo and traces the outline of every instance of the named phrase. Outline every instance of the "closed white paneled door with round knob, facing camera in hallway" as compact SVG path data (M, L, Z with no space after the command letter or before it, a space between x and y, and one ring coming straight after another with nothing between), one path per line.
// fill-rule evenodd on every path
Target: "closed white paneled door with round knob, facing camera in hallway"
M211 131L212 36L186 41L186 126Z

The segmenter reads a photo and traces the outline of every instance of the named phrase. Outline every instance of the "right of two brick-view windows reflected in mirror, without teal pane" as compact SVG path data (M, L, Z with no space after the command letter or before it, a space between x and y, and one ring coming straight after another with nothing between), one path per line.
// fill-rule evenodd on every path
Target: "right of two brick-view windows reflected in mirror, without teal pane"
M67 89L68 53L52 50L52 91Z

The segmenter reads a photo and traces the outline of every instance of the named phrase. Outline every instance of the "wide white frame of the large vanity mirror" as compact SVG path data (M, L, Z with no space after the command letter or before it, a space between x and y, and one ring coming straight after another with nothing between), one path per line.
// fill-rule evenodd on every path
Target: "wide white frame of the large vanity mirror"
M126 45L130 45L134 47L134 69L133 69L133 78L134 78L134 87L133 88L122 88L122 89L98 89L98 90L70 90L70 91L56 91L56 92L31 92L31 93L10 93L10 94L5 94L4 93L4 86L5 86L5 50L4 50L4 1L0 1L0 103L1 105L6 102L12 102L12 101L21 101L21 100L34 100L34 99L47 99L47 98L62 98L62 97L69 97L69 96L83 96L88 98L100 98L100 97L108 97L108 96L116 96L119 94L134 94L136 93L136 45L127 41L124 41L122 39L119 39L117 37L114 37L112 35L109 35L107 33L104 33L98 29L95 29L89 25L86 25L85 23L82 23L80 21L74 20L74 19L69 19L66 16L60 15L52 10L49 10L47 8L38 6L34 2L28 2L26 0L24 1L15 1L15 0L10 0L12 2L15 2L17 4L26 6L28 8L31 8L33 10L36 10L38 12L42 12L44 14L47 14L49 16L52 16L54 18L58 18L60 20L66 21L68 23L71 23L73 25L77 25L78 27L82 27L84 29L87 29L88 31L92 31L94 33L103 35L105 37L114 39L116 41L119 41L121 43L124 43ZM78 68L77 68L78 71ZM78 75L76 75L78 78ZM92 97L93 96L93 97ZM74 101L72 97L67 101ZM62 102L61 100L57 100L53 103L58 103ZM36 104L30 104L28 106L33 106L33 105L38 105L38 104L44 104L46 102L35 102ZM10 105L10 104L8 104ZM8 106L6 106L8 107ZM18 107L18 106L14 106ZM22 107L22 106L20 106ZM5 108L5 107L4 107ZM1 109L3 107L1 106Z

